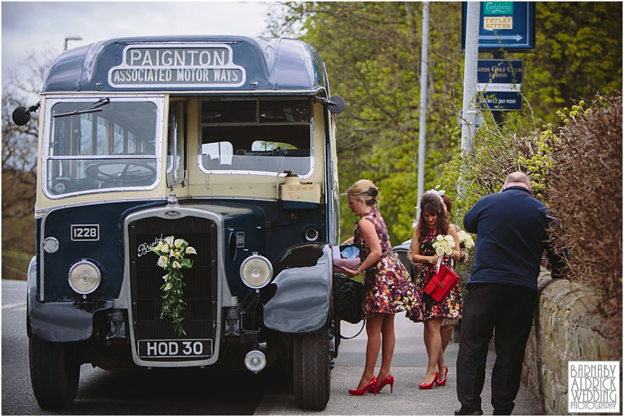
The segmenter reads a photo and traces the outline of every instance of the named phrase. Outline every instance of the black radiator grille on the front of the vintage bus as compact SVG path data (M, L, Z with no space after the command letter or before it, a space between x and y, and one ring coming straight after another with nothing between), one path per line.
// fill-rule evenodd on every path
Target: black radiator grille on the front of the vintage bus
M162 235L161 235L162 234ZM157 266L158 256L139 251L141 244L152 244L157 239L174 236L196 248L193 267L182 269L184 308L182 326L186 336L178 336L171 322L160 318L162 305L162 276L166 270ZM128 225L130 261L130 299L135 343L139 340L211 339L214 346L218 282L218 248L216 223L209 219L187 216L180 219L148 217ZM210 353L211 355L211 353ZM192 358L191 358L192 359ZM205 357L197 358L205 359ZM159 361L189 360L189 358L158 358Z

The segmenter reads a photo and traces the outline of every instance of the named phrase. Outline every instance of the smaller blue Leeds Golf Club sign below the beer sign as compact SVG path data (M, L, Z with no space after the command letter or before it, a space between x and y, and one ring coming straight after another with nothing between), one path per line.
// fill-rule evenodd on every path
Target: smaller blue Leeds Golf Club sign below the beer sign
M481 108L522 110L523 60L478 60L477 92Z

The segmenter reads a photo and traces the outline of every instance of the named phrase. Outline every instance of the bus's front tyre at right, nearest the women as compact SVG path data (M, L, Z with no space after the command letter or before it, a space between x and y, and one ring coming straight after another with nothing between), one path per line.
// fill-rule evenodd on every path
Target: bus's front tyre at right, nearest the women
M329 332L293 337L293 386L300 409L322 410L329 401Z

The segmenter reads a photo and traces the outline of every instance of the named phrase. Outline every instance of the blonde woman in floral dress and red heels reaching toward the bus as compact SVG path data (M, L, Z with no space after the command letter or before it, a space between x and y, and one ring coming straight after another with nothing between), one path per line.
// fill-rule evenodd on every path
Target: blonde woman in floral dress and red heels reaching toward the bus
M365 256L357 270L346 269L347 275L364 273L364 318L366 319L366 363L362 378L352 395L377 393L395 382L390 374L392 353L395 350L395 313L419 314L420 300L403 264L392 253L388 230L376 205L379 190L370 180L359 180L347 190L349 208L360 220L356 223L354 237L347 241L361 245ZM375 364L381 348L381 368L374 375Z

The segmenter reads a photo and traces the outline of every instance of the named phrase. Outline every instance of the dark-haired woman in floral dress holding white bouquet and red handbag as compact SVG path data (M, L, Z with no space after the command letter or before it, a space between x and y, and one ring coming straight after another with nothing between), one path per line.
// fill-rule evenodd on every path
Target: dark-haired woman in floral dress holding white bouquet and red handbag
M425 193L420 198L420 219L414 230L414 236L410 249L412 260L421 264L415 277L415 287L417 296L422 300L420 314L413 314L410 319L413 321L424 321L427 337L425 340L428 364L424 381L419 385L420 389L431 389L434 384L443 386L447 382L448 368L444 364L442 353L441 327L444 318L458 318L461 316L461 298L457 299L457 291L451 291L449 296L437 302L423 291L429 266L437 265L438 257L433 250L433 241L437 235L451 235L455 241L455 248L450 258L460 259L461 252L457 232L452 225L449 225L448 218L442 207L442 198L435 193ZM451 266L451 259L444 255L442 262L445 266ZM440 373L436 371L440 370ZM444 376L442 377L442 372Z

